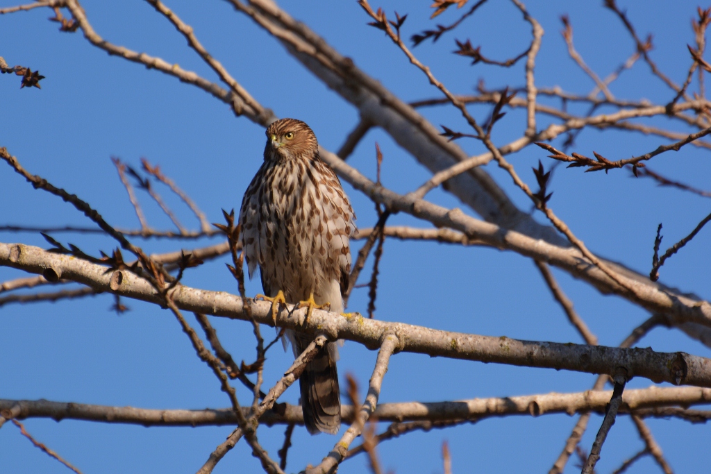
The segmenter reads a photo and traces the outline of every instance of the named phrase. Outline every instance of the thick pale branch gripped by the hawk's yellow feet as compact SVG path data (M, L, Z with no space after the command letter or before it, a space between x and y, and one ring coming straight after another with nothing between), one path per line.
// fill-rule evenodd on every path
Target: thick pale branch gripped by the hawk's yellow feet
M91 286L96 291L110 291L127 298L159 305L164 299L151 284L128 271L111 271L76 257L53 254L23 244L0 244L0 266L12 266L32 273L48 267L65 279ZM274 325L272 305L229 293L193 289L178 285L170 292L176 306L185 311ZM400 339L400 350L440 357L481 362L498 362L525 367L550 367L614 375L620 367L628 377L645 377L655 382L711 387L711 360L684 352L654 352L649 349L621 349L561 343L539 343L510 338L454 333L403 323L368 320L360 315L342 316L314 310L304 321L306 309L282 306L277 325L298 328L307 333L324 333L329 339L355 340L368 348L380 347L387 333Z

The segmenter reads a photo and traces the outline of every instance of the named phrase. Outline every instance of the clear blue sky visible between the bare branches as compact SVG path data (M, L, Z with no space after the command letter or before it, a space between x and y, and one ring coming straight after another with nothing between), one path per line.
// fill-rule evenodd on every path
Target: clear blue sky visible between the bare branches
M683 82L693 43L690 19L697 4L689 1L620 2L628 9L640 36L653 33L652 58L675 82ZM1 0L0 6L14 2ZM564 90L587 94L594 84L567 57L560 36L560 15L568 14L574 28L577 50L602 77L634 52L634 44L619 19L602 2L530 2L528 9L545 29L537 60L538 87L558 85ZM160 56L169 63L194 70L217 80L201 60L186 47L184 38L165 18L143 1L82 2L97 33L107 41ZM439 97L421 72L407 63L383 33L367 26L370 21L355 1L284 1L281 5L305 21L343 55L383 82L406 101ZM235 13L224 1L170 1L168 6L191 24L203 45L218 58L250 93L278 117L294 117L309 123L319 141L336 151L358 122L358 114L308 70L289 56L279 43ZM450 9L436 21L429 20L427 2L373 3L409 14L404 33L449 23L461 11ZM235 118L222 102L196 87L172 77L146 70L141 65L109 57L85 41L80 33L60 33L57 23L46 20L50 11L0 16L0 55L9 65L39 69L46 79L41 90L19 90L19 78L0 76L0 146L31 173L76 193L99 210L116 227L137 227L138 222L109 158L118 156L132 166L139 158L160 164L164 173L191 195L210 222L222 220L220 209L238 208L242 193L262 159L262 128L247 119ZM444 80L450 90L468 93L480 78L491 88L523 85L523 63L510 70L451 55L454 38L469 38L482 45L482 53L509 58L528 47L530 27L506 1L490 1L454 33L434 45L425 42L415 53ZM665 104L673 94L652 77L648 66L637 63L611 87L619 98L647 98ZM695 89L693 89L695 90ZM542 103L555 103L541 99ZM472 107L485 119L488 107ZM571 110L584 113L584 107ZM466 124L451 108L421 111L433 124L464 129ZM541 118L539 127L547 124ZM642 123L688 131L677 122L661 117ZM512 111L497 124L493 139L505 144L523 133L523 112ZM400 193L417 188L430 176L428 171L400 149L387 134L372 130L349 159L367 176L375 178L375 142L383 150L383 184ZM560 145L561 140L554 142ZM572 149L587 156L597 151L610 159L646 153L665 141L619 131L584 131ZM476 141L460 141L471 154L481 153ZM530 166L546 153L530 147L510 157L518 173L535 183ZM681 151L654 158L650 167L698 188L711 188L708 151L686 146ZM528 198L495 166L487 171L522 209ZM345 185L360 227L375 222L373 205ZM189 210L159 188L185 225L197 228ZM587 246L598 254L623 262L643 273L651 266L656 226L663 222L663 248L677 241L705 217L705 198L670 188L658 188L651 180L631 178L624 170L583 173L560 166L554 172L550 207L562 217ZM139 193L152 226L169 228L170 222ZM428 198L448 207L460 206L456 198L435 190ZM85 217L62 200L33 190L9 167L0 168L0 225L90 225ZM466 210L471 212L471 210ZM543 222L540 215L537 216ZM407 215L395 215L393 225L428 227ZM704 230L661 270L661 280L682 291L709 298L710 233ZM105 237L55 235L62 242L79 245L86 252L108 252L114 242ZM2 233L3 242L24 242L47 247L35 234ZM150 252L167 252L218 242L137 241ZM356 244L356 248L360 244ZM235 284L223 266L210 262L186 274L183 283L204 289L235 292ZM363 279L370 274L370 263ZM617 345L648 314L614 296L603 296L587 284L555 271L561 286L574 301L580 315L605 345ZM21 272L0 268L0 279L16 278ZM252 281L247 293L259 292ZM349 309L365 312L367 290L355 290ZM228 399L208 367L196 357L178 324L166 311L137 301L122 316L109 311L112 298L95 296L82 301L8 305L0 308L4 338L0 343L3 367L0 397L46 398L93 404L132 405L146 408L203 408L228 406ZM511 252L481 247L460 248L435 243L385 244L380 266L376 317L445 330L484 335L507 335L528 340L580 342L565 315L552 300L533 262ZM190 315L188 315L190 316ZM192 321L191 321L192 322ZM213 320L220 339L237 360L254 358L252 329L247 323ZM271 335L271 330L265 330ZM675 330L657 328L641 341L655 350L684 350L705 357L711 350ZM277 380L291 363L291 353L272 350L265 372L266 383ZM375 352L346 343L338 370L352 372L364 386L375 362ZM430 359L400 354L392 358L383 383L382 402L439 401L545 392L575 392L588 389L594 378L569 372L483 365L476 362ZM648 380L634 379L630 387L647 387ZM240 399L248 394L240 389ZM298 393L289 389L283 399L296 402ZM440 449L449 442L454 472L507 473L546 472L560 453L575 419L566 415L537 419L516 417L489 419L479 424L447 431L412 433L379 447L386 469L403 472L442 471ZM582 446L589 449L600 418L593 416ZM58 451L84 473L191 472L230 433L218 428L143 428L108 426L82 421L33 419L28 431ZM703 442L708 427L683 421L649 421L654 435L679 473L699 472L711 463ZM260 438L276 456L283 428L263 429ZM333 446L332 436L309 436L304 429L294 433L289 452L289 472L317 463ZM631 421L621 418L604 446L600 472L614 470L622 460L641 448ZM0 462L7 472L63 473L59 463L43 455L22 438L14 426L0 429ZM365 458L343 464L341 473L365 471ZM645 458L629 472L656 469ZM226 473L237 468L253 472L259 464L240 443L215 469ZM567 472L575 472L574 460Z

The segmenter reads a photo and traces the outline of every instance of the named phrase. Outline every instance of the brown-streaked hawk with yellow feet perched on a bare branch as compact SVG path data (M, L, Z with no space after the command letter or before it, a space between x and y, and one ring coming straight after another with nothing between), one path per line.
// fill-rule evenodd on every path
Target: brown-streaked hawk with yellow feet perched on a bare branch
M242 199L240 225L250 279L259 266L274 317L279 303L308 306L307 318L314 308L343 312L355 214L304 122L281 119L267 128L264 163ZM294 357L314 339L293 330L285 335ZM328 343L299 379L311 434L337 433L341 427L337 358L336 344Z

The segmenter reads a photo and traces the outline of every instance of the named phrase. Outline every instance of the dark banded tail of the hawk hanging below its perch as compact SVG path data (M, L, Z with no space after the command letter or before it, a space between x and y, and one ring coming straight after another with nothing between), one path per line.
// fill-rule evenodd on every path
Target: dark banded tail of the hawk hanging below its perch
M299 353L311 343L311 336L296 334ZM299 378L301 410L309 433L336 434L341 429L341 395L338 390L336 351L325 345Z

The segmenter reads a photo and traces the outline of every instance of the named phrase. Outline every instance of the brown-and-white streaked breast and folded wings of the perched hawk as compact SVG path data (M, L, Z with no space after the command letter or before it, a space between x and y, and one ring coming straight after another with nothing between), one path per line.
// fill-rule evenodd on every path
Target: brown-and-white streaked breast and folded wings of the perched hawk
M325 294L350 273L355 215L336 174L316 158L264 161L240 211L250 278L296 302Z

